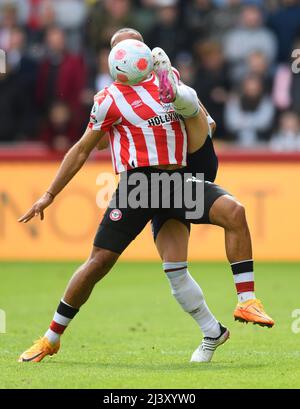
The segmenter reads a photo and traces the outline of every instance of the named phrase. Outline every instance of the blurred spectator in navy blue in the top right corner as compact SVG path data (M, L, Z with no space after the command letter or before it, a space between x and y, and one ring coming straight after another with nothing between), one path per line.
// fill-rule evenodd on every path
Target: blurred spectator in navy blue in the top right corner
M281 5L268 23L278 40L278 61L288 62L293 42L300 36L300 4L298 0L281 0Z

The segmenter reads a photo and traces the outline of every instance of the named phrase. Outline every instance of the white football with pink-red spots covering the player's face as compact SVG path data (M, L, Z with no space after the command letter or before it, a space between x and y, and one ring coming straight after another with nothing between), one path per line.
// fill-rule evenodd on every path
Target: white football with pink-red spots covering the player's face
M150 48L138 40L118 43L108 57L109 70L115 81L135 85L148 77L153 69Z

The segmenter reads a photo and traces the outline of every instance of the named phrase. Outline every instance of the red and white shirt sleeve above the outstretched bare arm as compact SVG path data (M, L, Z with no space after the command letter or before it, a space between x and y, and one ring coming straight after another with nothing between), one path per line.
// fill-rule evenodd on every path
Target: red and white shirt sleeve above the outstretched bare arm
M88 127L93 131L108 132L120 119L119 111L107 90L95 96Z

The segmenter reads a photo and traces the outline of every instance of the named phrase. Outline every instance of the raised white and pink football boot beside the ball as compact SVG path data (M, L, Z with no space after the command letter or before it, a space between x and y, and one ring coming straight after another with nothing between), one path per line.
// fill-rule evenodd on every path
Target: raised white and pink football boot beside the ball
M153 48L152 57L153 70L159 81L160 100L164 104L170 104L176 98L178 79L176 79L169 57L162 48Z

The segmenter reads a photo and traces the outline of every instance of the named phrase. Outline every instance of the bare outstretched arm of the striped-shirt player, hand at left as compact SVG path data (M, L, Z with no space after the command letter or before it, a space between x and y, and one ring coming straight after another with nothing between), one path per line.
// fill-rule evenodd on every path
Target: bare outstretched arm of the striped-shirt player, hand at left
M104 133L103 131L93 131L87 128L82 138L67 152L47 191L34 203L27 213L18 219L20 223L27 223L35 216L40 216L40 219L44 220L44 210L51 205L55 196L79 172Z

